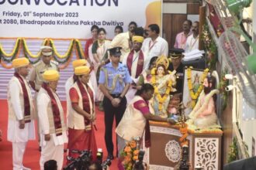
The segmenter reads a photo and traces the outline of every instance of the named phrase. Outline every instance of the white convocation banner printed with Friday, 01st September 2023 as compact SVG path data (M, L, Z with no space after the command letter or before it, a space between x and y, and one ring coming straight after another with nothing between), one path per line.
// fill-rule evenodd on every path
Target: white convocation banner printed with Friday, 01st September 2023
M0 0L0 37L67 38L91 37L93 25L106 29L129 22L161 26L161 0Z

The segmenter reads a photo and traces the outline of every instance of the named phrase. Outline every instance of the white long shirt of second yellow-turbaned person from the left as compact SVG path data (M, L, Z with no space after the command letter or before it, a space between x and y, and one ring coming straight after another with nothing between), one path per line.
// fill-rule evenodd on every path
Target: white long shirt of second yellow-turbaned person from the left
M57 101L58 106L61 106L61 101L58 99L57 94L54 93L54 98ZM50 97L46 93L40 93L36 98L38 117L40 120L40 134L41 134L41 146L47 145L47 141L44 141L44 134L50 133L50 125L48 121L47 107L50 103ZM63 112L63 108L59 107L60 113ZM54 145L63 145L67 143L67 134L66 131L62 131L62 134L56 136L56 134L50 134L50 138L54 139Z

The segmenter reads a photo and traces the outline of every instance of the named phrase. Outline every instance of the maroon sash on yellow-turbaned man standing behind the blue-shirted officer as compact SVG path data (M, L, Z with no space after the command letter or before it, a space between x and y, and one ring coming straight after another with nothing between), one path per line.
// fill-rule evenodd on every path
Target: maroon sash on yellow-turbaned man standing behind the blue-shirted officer
M129 53L129 55L128 55L128 57L127 57L127 62L126 62L126 66L128 67L128 70L129 70L130 75L131 75L131 73L132 73L132 65L133 65L133 62L134 62L134 60L135 60L135 59L133 59L133 53L134 53L134 49ZM135 78L137 78L138 76L140 76L140 73L142 73L142 71L143 71L143 65L144 65L144 54L143 54L142 51L140 50Z

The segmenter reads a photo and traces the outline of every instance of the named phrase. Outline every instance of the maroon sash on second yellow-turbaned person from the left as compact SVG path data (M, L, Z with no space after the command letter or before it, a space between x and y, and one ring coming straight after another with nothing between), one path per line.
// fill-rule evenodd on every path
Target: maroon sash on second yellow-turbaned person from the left
M57 105L57 101L54 97L54 93L50 90L50 87L48 87L47 83L43 83L42 87L43 87L44 90L47 91L47 93L50 97L50 102L51 102L51 106L52 106L53 113L54 113L55 133L56 133L56 136L60 136L62 134L60 109Z

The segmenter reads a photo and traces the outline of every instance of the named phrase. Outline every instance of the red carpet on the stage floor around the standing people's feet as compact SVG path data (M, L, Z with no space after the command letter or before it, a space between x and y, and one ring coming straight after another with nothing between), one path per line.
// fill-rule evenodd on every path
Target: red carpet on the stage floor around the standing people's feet
M66 103L63 102L63 108L66 110ZM2 130L3 136L2 141L0 141L0 169L3 170L11 170L12 169L12 143L7 141L7 121L8 121L8 105L6 100L0 100L0 129ZM98 148L102 148L104 151L104 158L106 160L107 151L104 141L104 114L96 110L97 113L97 128L98 131L95 131L96 141ZM114 129L113 129L114 130ZM114 133L114 132L113 132ZM114 135L116 136L116 135ZM115 139L116 140L116 137ZM116 153L114 151L114 153ZM23 165L28 168L32 168L33 170L40 169L39 166L40 160L40 151L38 151L38 144L36 141L29 141L26 147L26 152L23 158ZM118 169L117 168L117 158L112 160L112 165L110 169Z

